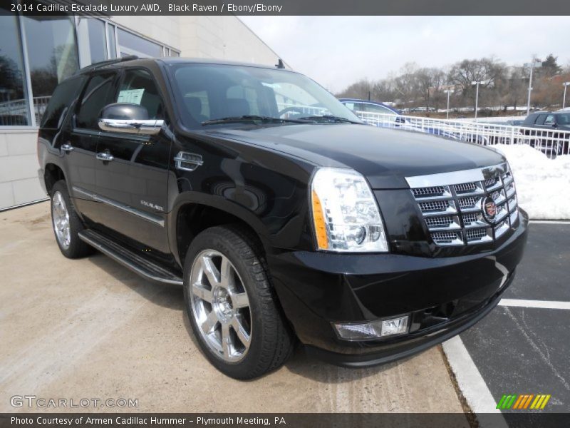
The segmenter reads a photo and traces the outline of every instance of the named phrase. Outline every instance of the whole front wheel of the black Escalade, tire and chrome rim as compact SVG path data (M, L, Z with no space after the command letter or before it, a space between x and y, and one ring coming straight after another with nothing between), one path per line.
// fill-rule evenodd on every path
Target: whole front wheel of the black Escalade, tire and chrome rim
M294 337L254 237L230 226L204 230L190 245L184 272L190 325L214 367L252 379L285 362Z

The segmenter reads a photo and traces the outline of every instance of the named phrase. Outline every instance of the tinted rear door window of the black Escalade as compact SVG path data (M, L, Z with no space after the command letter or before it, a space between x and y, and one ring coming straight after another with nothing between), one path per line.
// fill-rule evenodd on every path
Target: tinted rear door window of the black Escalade
M81 98L81 105L76 116L78 128L99 130L97 123L99 113L103 107L113 102L114 81L115 73L102 73L90 78L85 91L83 91L83 98Z

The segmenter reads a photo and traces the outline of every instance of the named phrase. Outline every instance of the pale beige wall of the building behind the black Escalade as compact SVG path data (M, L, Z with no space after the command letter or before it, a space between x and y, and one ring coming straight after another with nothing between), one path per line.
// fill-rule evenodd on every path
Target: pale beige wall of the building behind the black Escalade
M277 54L235 16L113 16L110 21L180 56L273 65ZM37 128L0 126L0 210L46 198L37 177Z

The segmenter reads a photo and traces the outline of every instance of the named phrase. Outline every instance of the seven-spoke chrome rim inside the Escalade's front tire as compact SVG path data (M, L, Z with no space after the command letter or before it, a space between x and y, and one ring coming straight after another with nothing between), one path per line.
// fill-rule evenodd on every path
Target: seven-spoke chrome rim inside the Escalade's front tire
M226 362L242 360L252 342L252 314L232 262L203 250L192 263L189 286L192 316L209 349Z

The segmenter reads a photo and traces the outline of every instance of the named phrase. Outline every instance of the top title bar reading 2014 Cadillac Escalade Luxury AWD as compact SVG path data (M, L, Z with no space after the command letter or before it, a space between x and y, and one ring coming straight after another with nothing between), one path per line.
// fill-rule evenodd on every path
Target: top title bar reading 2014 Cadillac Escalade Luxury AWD
M26 15L570 15L568 0L2 0L0 14ZM529 29L530 30L530 29Z

